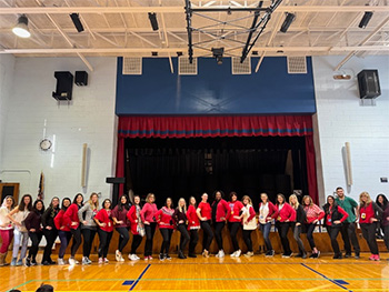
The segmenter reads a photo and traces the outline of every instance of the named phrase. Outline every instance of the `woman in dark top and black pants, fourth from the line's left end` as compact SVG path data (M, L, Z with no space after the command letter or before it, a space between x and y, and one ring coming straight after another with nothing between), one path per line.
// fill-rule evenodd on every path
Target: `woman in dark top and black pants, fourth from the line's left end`
M51 203L49 208L46 209L44 213L42 214L43 235L46 239L46 246L44 246L43 259L42 259L43 265L56 263L53 260L51 260L51 251L52 251L52 245L54 244L54 241L58 235L58 230L56 229L56 224L54 224L54 218L59 212L59 203L60 203L59 198L53 197L51 199Z

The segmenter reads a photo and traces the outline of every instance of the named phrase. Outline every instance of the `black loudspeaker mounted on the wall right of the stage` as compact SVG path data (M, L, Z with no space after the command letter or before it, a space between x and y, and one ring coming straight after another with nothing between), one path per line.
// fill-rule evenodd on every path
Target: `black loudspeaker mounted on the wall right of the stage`
M378 70L362 70L358 73L359 95L361 99L375 99L381 95Z

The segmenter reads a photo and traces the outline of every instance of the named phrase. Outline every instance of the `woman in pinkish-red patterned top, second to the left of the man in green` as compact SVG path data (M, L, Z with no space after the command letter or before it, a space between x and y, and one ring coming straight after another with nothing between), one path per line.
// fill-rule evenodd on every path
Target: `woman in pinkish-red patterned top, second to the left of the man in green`
M316 228L316 224L320 222L321 219L325 218L326 213L323 210L320 209L317 204L313 204L312 198L309 195L305 195L302 198L302 207L303 211L306 212L306 230L307 230L307 239L309 242L309 245L312 249L312 254L309 256L311 259L317 259L320 256L320 251L316 248L315 240L313 240L313 231Z

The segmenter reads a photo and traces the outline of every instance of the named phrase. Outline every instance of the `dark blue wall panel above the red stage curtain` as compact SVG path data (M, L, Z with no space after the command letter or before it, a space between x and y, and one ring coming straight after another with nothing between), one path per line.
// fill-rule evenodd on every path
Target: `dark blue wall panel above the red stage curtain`
M251 59L252 71L258 58ZM233 75L231 59L200 58L197 75L170 73L167 58L146 58L141 75L123 75L118 60L116 113L301 114L316 112L311 58L308 73L289 74L287 58L265 58L258 73Z

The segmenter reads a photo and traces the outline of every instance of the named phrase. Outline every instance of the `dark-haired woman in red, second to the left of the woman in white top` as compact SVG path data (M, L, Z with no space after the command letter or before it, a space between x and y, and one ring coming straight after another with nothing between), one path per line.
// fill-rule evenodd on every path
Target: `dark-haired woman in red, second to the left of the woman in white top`
M213 193L213 203L212 203L212 224L215 228L215 239L218 244L219 252L216 255L217 258L225 258L223 250L223 240L221 232L225 229L227 212L229 211L229 205L223 199L225 194L222 191L216 191Z

